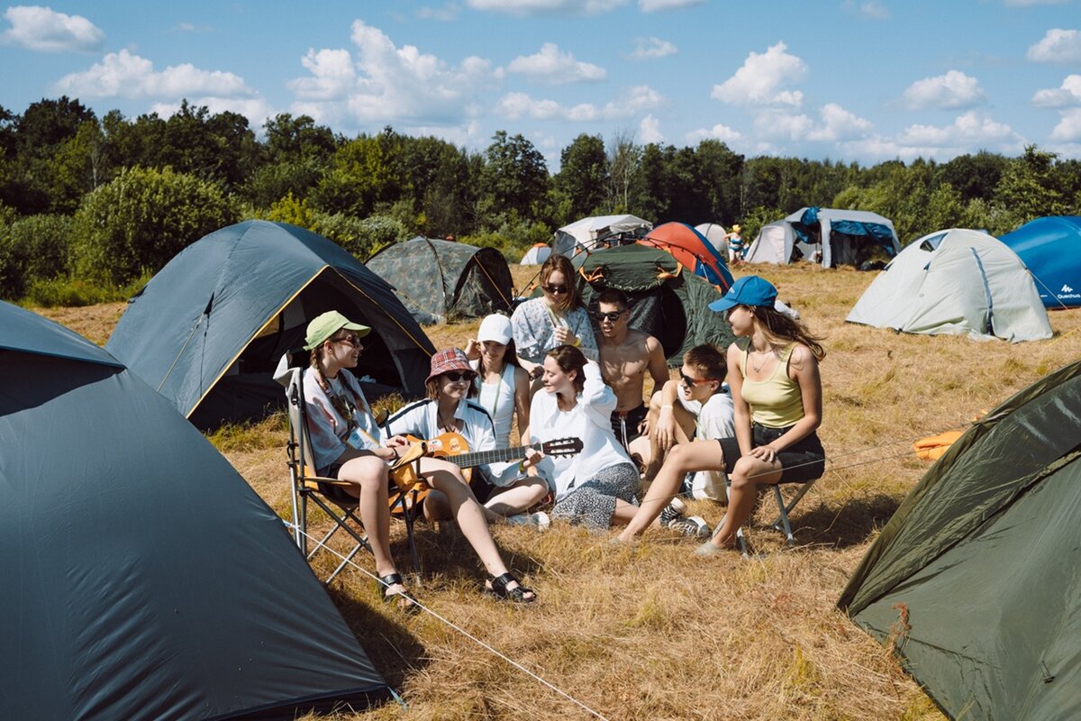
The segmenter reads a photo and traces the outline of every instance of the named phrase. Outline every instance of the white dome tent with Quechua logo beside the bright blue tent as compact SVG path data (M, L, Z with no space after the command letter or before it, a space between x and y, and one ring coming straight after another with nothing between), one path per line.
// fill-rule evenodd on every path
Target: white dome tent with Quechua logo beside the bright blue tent
M1028 269L979 230L939 230L908 244L864 291L852 323L906 333L1005 341L1050 338Z

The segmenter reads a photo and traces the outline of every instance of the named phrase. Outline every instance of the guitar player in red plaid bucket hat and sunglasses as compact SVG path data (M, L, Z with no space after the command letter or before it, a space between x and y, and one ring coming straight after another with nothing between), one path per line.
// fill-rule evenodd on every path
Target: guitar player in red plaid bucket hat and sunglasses
M492 416L472 400L477 395L476 379L477 372L464 352L457 348L440 350L431 357L431 372L425 382L428 398L410 403L391 415L386 423L387 432L423 439L451 432L462 436L469 451L501 448ZM453 456L449 459L454 460ZM489 521L548 526L545 513L520 515L547 493L542 481L526 477L530 463L531 459L525 458L520 464L492 463L473 469L469 486L484 504L482 509ZM446 499L437 492L425 498L424 512L429 520L450 516Z

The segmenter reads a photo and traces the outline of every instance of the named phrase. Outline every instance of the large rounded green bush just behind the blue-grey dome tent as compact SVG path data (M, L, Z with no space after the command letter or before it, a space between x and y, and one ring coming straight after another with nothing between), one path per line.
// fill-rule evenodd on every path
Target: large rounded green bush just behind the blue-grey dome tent
M233 200L206 181L171 169L136 168L83 199L76 213L80 277L121 284L157 272L203 236L237 222Z

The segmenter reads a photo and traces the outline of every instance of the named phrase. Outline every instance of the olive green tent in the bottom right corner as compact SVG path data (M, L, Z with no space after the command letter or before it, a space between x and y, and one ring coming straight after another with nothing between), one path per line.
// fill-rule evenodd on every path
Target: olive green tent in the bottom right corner
M973 425L838 602L951 718L1081 718L1081 361Z

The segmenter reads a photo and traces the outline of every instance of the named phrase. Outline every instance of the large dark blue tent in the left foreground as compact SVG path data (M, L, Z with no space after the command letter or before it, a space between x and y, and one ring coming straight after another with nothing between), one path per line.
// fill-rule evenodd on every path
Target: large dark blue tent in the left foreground
M386 684L282 529L164 398L0 304L0 717L295 718Z

